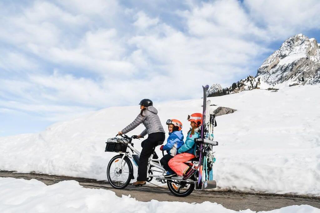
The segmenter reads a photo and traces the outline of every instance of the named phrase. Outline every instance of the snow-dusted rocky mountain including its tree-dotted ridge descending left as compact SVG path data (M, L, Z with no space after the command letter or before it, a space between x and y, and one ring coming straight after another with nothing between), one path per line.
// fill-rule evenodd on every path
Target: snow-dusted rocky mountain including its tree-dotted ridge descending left
M256 77L248 76L232 86L221 88L213 84L208 97L221 96L252 89L320 83L320 44L305 35L294 35L282 43L258 69Z

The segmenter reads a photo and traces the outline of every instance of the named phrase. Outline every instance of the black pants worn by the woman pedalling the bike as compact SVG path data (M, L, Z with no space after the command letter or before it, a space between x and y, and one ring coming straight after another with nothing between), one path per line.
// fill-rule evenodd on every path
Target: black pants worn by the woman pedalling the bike
M148 135L148 138L142 141L142 151L139 158L137 181L147 180L148 159L150 155L155 151L155 148L158 145L157 143L159 141L164 142L164 139L164 132L155 132Z

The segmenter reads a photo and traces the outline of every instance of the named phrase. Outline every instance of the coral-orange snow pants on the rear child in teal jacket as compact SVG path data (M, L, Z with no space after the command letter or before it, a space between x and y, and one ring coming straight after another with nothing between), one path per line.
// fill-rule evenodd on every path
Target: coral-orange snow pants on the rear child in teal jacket
M190 161L192 158L195 158L194 154L190 153L181 153L177 154L168 162L169 167L177 173L179 176L183 176L184 172L188 169L188 165L184 162Z

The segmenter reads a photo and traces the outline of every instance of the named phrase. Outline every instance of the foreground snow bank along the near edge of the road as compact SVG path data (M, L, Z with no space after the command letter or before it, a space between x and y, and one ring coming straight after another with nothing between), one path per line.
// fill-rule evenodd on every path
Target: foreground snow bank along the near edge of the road
M0 209L2 212L237 212L211 202L190 204L186 202L167 202L151 200L136 201L130 196L117 197L104 189L83 188L76 181L62 181L54 185L32 180L0 178ZM241 211L254 212L250 209ZM320 212L309 205L288 206L275 209L273 213Z

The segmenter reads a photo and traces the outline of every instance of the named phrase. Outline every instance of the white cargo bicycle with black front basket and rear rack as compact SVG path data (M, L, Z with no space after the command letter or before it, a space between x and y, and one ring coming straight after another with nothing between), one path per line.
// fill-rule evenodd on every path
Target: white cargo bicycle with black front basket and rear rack
M116 136L114 138L108 138L106 142L106 152L116 152L118 155L111 158L107 167L107 178L110 185L115 189L124 189L130 184L130 181L134 178L133 174L133 165L139 166L139 155L140 152L134 148L132 139L137 139L137 136L128 137L127 135ZM166 178L166 170L160 164L160 159L157 158L156 153L153 150L154 154L148 159L147 167L147 182L155 179L161 183L167 183L170 192L178 197L188 196L194 189L203 190L216 188L216 181L212 179L212 163L214 163L215 158L212 152L213 146L218 145L218 142L206 140L203 138L196 138L196 144L198 146L199 152L205 152L207 154L207 160L209 160L209 166L203 165L200 166L199 158L191 159L186 162L189 165L192 165L192 168L196 172L187 180L183 180L181 176L175 176ZM203 144L202 150L200 150L200 143ZM163 142L157 144L161 145ZM164 152L163 152L164 155ZM206 161L207 162L207 161ZM199 181L198 172L202 173L202 179ZM204 178L206 177L206 178Z

